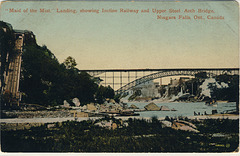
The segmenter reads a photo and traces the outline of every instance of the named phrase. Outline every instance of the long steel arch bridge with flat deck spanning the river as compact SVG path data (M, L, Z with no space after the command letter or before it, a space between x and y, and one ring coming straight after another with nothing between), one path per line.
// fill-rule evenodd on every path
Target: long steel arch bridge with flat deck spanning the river
M129 89L134 88L135 86L138 86L140 84L146 83L148 81L152 81L154 79L163 78L163 77L169 77L169 76L180 76L180 75L187 75L187 76L195 76L198 73L205 72L208 77L214 77L216 75L221 74L229 74L229 75L239 75L239 68L196 68L196 69L113 69L113 70L81 70L88 72L91 76L98 76L100 74L105 73L105 77L102 78L106 81L106 73L112 73L111 77L113 81L111 85L114 88L114 84L117 84L116 81L114 81L114 78L116 78L116 74L114 73L120 73L120 76L117 78L120 79L120 88L115 89L115 92L117 94L124 93ZM148 75L143 75L141 77L134 77L133 81L128 81L128 83L122 85L122 73L128 73L128 79L129 79L129 72L135 72L136 74L138 72L154 72ZM110 84L110 83L109 83ZM106 82L105 82L106 85Z

